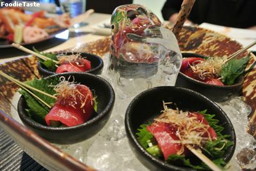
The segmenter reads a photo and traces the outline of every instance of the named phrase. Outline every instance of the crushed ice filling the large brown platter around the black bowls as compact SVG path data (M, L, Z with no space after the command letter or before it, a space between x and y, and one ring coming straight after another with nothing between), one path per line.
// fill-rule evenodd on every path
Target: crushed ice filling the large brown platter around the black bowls
M103 77L107 78L106 73L103 73ZM127 142L124 115L131 99L116 93L115 107L111 117L97 135L78 144L57 146L77 158L77 160L97 170L147 170L134 156ZM241 98L233 98L219 105L226 112L236 130L236 151L230 161L228 170L241 170L237 162L237 154L244 148L252 151L256 148L256 140L252 135L246 133L247 117L251 108ZM243 168L253 170L256 168L255 165L256 159L254 156L246 165L243 165Z

